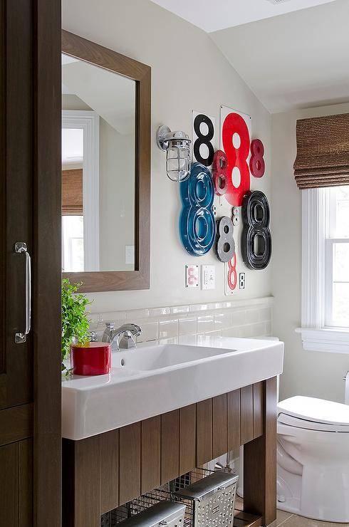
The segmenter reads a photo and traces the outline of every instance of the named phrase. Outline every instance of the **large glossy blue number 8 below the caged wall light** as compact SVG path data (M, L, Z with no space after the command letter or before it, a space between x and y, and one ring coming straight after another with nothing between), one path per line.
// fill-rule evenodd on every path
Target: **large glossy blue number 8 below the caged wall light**
M182 244L192 256L202 256L212 248L216 234L214 186L209 169L193 163L189 178L179 183L179 192L183 206L179 216Z

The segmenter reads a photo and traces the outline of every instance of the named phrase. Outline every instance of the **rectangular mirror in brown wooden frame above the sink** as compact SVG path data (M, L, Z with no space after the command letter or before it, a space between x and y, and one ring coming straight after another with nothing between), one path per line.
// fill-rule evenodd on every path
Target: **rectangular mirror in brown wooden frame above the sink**
M62 272L80 291L150 285L149 66L62 31Z

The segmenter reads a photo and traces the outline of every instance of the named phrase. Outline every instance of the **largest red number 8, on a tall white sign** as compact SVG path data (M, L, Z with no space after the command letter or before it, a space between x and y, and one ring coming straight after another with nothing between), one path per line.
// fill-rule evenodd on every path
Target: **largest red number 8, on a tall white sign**
M234 134L239 137L240 145L235 147L233 144ZM224 119L222 127L222 141L224 152L228 159L227 167L227 189L226 200L234 207L241 207L242 200L250 187L250 174L247 158L249 157L249 128L244 119L238 113L229 113ZM239 187L235 187L232 180L234 168L240 172Z

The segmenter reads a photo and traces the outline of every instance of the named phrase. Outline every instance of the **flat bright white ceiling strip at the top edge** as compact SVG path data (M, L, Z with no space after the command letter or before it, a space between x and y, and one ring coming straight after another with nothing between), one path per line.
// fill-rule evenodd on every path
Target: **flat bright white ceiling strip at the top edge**
M269 0L152 0L155 4L172 11L204 29L208 33L220 29L269 19L298 9L327 4L334 0L283 0L272 4Z

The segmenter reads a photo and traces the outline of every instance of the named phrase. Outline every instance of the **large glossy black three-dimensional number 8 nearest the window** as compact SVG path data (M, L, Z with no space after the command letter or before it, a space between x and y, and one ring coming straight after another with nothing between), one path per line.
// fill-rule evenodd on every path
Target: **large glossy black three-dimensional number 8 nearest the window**
M266 195L259 190L248 192L242 204L244 229L241 252L250 269L264 269L271 259L270 210Z

